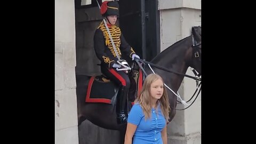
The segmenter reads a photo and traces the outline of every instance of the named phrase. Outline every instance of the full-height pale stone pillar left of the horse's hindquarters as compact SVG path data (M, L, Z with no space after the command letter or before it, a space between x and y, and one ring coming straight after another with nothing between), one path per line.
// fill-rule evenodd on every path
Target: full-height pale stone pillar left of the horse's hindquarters
M78 144L75 42L74 0L55 0L55 144Z

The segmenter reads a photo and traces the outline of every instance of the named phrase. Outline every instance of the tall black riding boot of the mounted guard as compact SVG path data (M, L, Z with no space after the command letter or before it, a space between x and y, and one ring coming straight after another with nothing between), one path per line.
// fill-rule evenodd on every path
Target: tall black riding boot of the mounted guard
M125 102L128 94L128 90L124 89L124 86L121 89L121 93L119 95L119 114L117 115L117 123L125 124L127 123L127 115L125 114Z

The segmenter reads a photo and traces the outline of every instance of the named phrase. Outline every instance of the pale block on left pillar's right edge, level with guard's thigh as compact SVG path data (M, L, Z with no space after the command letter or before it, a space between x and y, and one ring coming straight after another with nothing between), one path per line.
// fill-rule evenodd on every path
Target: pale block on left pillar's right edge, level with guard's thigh
M63 69L65 89L76 88L76 73L75 67L64 67Z

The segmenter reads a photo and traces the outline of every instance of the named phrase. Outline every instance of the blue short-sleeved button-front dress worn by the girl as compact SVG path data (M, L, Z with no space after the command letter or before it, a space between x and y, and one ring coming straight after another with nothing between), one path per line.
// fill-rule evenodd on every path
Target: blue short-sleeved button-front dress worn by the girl
M137 125L134 133L133 144L157 143L162 144L161 131L166 125L160 105L157 106L157 114L154 108L151 109L151 117L145 121L145 115L138 103L135 103L129 113L127 122Z

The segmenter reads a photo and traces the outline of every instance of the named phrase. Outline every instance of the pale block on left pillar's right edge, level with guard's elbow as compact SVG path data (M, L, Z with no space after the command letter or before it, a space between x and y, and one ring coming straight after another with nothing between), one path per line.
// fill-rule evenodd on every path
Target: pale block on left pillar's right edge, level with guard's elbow
M63 59L65 67L76 66L76 47L75 43L62 43Z

